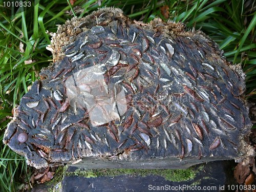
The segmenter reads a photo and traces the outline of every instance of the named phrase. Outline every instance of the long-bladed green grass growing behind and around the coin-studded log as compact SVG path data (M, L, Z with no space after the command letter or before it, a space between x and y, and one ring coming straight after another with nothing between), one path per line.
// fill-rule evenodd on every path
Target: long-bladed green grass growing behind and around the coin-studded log
M56 25L65 23L72 14L81 17L104 6L121 8L132 19L150 22L155 17L167 20L160 11L167 5L168 19L184 22L189 30L201 29L219 44L227 60L241 63L247 75L245 97L255 101L254 3L253 0L77 0L72 6L60 0L34 0L31 7L17 9L4 7L4 1L0 0L0 139L3 139L13 107L38 78L40 69L52 61L51 53L46 50L50 44L47 31L56 32ZM0 191L17 191L24 181L29 181L31 169L23 157L7 146L1 144L0 148Z

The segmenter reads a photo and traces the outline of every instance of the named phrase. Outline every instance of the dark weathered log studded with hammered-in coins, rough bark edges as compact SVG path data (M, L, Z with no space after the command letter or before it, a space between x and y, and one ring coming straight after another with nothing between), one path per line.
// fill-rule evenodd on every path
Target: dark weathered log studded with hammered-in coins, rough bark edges
M114 8L59 26L4 142L36 168L186 168L252 156L245 75L180 23Z

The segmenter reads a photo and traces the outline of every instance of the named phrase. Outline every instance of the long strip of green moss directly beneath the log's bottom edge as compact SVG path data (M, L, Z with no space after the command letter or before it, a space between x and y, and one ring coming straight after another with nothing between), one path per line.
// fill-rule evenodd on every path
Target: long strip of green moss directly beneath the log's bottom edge
M114 177L118 175L134 175L146 177L148 175L158 175L169 181L187 181L194 179L198 169L190 167L188 169L81 169L75 172L67 173L67 176L79 176L86 178L94 178L99 176Z

